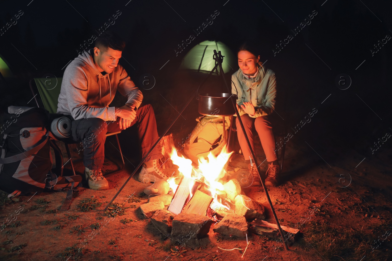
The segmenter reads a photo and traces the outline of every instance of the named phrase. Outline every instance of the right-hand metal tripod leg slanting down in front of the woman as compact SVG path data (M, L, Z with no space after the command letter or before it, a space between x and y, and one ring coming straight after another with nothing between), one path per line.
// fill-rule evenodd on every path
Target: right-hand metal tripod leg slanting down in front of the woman
M219 51L219 54L218 54L218 53L216 52L216 50L214 50L214 59L218 62L218 64L219 64L219 69L220 69L220 73L221 73L222 78L223 78L223 82L225 83L225 86L226 86L227 90L229 91L229 93L231 93L231 90L230 90L230 88L229 88L229 85L227 85L227 81L226 81L226 79L225 79L225 76L223 75L223 69L222 69L223 56L221 56L220 51ZM279 223L278 217L276 216L274 206L272 205L271 199L270 199L270 197L269 197L269 194L268 194L268 191L267 191L267 187L266 187L265 184L264 184L265 177L263 176L263 178L261 178L261 174L260 174L260 171L259 171L259 168L258 168L258 163L257 163L256 155L254 154L254 151L253 151L253 149L252 149L252 146L250 145L249 138L248 138L248 135L246 134L244 125L243 125L243 123L242 123L240 113L239 113L238 110L237 110L237 106L236 106L237 102L234 101L234 99L233 99L232 96L230 97L230 101L232 102L232 104L233 104L233 106L234 106L234 110L236 111L236 115L237 115L238 122L240 122L242 132L244 133L245 140L246 140L246 142L247 142L247 144L248 144L248 147L249 147L249 149L250 149L250 154L252 155L252 158L253 158L253 164L256 164L257 173L259 174L259 177L260 177L260 180L261 180L261 185L263 185L263 189L264 189L265 195L267 196L267 200L268 200L268 203L269 203L269 205L270 205L272 214L274 215L274 218L275 218L275 221L276 221L276 225L278 225L278 229L279 229L279 232L280 232L280 236L281 236L281 238L282 238L282 240L283 240L283 243L285 244L286 250L289 250L289 247L287 246L287 242L286 242L286 240L285 240L285 238L284 238L284 236L283 236L283 230L282 230L282 228L280 227L280 223Z

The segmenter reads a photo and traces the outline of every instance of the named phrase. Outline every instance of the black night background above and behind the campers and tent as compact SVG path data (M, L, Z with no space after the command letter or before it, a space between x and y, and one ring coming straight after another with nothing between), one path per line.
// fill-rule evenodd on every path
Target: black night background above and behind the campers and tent
M289 121L298 122L316 104L324 106L325 118L320 116L321 132L313 131L315 139L334 129L336 135L355 130L359 136L353 142L362 138L361 131L371 140L390 127L392 43L387 41L373 55L370 51L387 34L392 36L388 1L7 1L0 9L2 26L19 10L24 14L18 23L0 36L0 54L19 81L15 88L2 89L3 109L31 99L28 81L33 77L61 77L62 68L77 56L79 45L119 10L121 15L108 29L127 42L120 63L135 82L144 73L153 74L167 97L172 95L171 83L181 58L193 45L220 40L236 52L243 41L254 39L260 43L261 60L268 60L266 66L276 72ZM177 45L216 10L219 15L213 24L176 56ZM314 10L317 15L311 23L274 56L275 45ZM352 80L347 90L335 84L342 73ZM173 100L174 106L181 107L183 100ZM363 130L364 121L368 130Z

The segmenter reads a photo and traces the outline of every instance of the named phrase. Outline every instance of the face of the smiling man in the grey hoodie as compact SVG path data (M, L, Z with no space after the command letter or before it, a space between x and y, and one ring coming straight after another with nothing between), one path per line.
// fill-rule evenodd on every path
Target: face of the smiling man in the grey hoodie
M102 48L101 48L102 49ZM114 67L118 65L118 60L121 58L122 51L107 48L104 52L98 47L94 47L94 61L99 72L113 72Z

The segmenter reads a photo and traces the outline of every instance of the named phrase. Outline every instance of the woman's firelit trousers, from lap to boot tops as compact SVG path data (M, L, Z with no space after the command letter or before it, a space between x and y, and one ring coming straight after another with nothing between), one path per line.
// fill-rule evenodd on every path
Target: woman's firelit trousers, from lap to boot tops
M244 125L245 131L248 135L249 142L250 145L252 146L253 151L254 151L254 143L253 143L252 126L254 125L257 133L259 134L261 140L261 146L263 146L265 157L267 157L267 161L271 162L277 160L278 158L275 153L275 138L274 138L274 134L272 133L272 126L271 126L271 122L268 119L268 115L252 118L249 117L248 114L244 114L241 116L241 120ZM236 126L237 126L238 142L240 143L244 158L245 160L250 160L252 156L250 154L248 144L246 142L245 136L243 134L238 119L236 119Z

